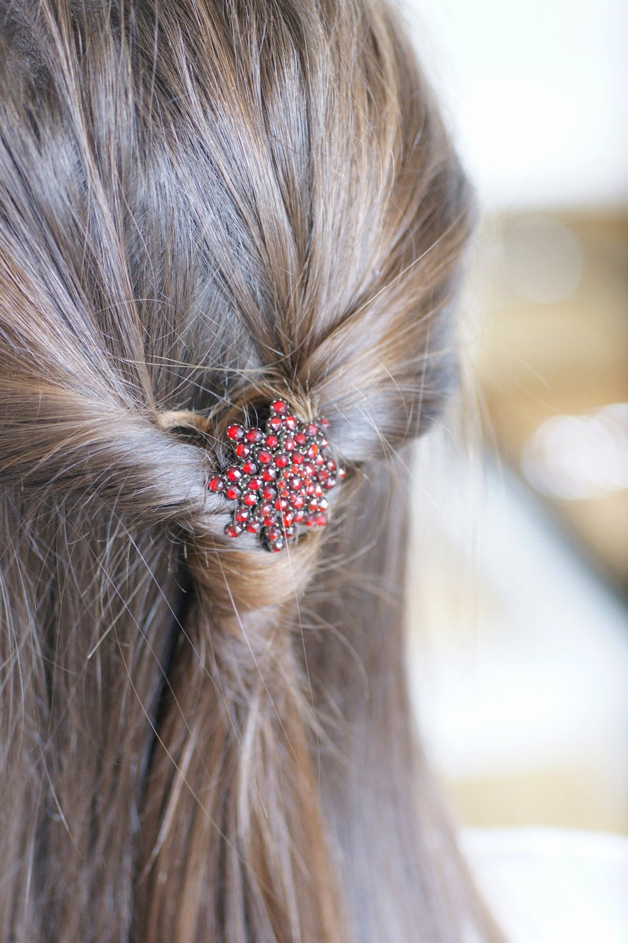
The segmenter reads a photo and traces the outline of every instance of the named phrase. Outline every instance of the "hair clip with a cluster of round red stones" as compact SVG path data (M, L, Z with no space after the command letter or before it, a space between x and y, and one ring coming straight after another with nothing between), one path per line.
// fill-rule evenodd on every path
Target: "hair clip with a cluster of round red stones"
M228 537L259 534L268 550L283 550L297 535L298 524L324 527L329 522L325 492L345 477L331 457L325 438L330 423L301 422L282 400L270 404L266 432L230 425L237 464L210 478L210 491L236 501Z

